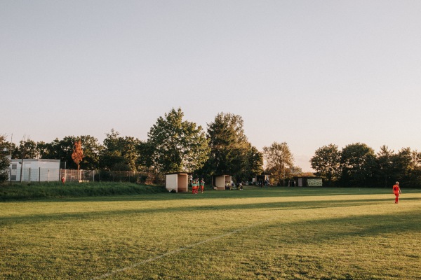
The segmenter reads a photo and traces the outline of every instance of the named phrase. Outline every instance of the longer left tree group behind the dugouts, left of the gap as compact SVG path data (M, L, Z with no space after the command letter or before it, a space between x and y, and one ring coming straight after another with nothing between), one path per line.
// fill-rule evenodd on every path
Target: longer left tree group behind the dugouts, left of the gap
M276 182L300 172L299 167L293 166L293 155L286 143L274 142L263 152L250 144L239 115L218 113L206 131L183 117L181 109L171 109L152 125L146 141L122 137L113 129L102 144L95 137L82 135L56 138L50 143L26 139L15 145L0 135L0 146L3 155L10 153L11 158L55 159L65 162L62 167L67 169L230 174L236 181L250 181L267 172L274 173L272 180ZM7 168L4 165L1 170Z

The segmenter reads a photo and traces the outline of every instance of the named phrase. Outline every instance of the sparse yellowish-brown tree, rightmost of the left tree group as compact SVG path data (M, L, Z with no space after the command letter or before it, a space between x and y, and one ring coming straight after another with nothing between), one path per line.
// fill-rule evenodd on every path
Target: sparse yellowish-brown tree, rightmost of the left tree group
M294 168L293 154L286 142L274 142L271 146L263 147L263 153L266 160L266 168L271 172L276 181L281 182L282 186L286 186L285 180L288 178L288 170Z

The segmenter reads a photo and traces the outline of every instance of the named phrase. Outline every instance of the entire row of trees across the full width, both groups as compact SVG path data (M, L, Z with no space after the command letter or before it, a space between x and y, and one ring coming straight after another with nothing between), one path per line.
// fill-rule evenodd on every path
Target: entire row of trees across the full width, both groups
M111 130L102 144L95 137L82 135L50 143L26 139L17 146L0 135L0 181L8 169L4 156L10 154L12 158L60 160L67 169L187 172L207 178L229 174L235 181L270 174L271 183L281 186L288 186L295 176L319 176L325 186L386 187L394 181L421 186L421 154L410 148L394 153L382 146L375 154L366 144L351 144L342 151L329 144L315 151L310 160L316 172L304 174L294 165L285 142L275 141L262 151L250 144L239 115L218 113L206 130L183 117L181 109L171 109L156 120L145 141Z

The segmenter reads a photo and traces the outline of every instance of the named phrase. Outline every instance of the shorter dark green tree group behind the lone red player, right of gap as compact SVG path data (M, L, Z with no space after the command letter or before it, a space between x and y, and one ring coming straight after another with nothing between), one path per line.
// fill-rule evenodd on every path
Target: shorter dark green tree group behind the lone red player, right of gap
M375 153L366 144L349 144L340 150L329 144L319 148L310 160L315 175L327 186L421 187L421 153L410 148L395 152L386 145Z

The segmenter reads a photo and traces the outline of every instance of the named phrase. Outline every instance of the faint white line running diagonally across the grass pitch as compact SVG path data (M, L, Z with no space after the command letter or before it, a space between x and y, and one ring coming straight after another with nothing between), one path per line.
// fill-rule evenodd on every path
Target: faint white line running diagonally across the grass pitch
M112 276L112 275L117 274L119 272L125 272L126 270L133 269L135 267L138 267L139 265L144 265L147 262L153 262L154 260L159 260L160 258L164 258L167 255L173 255L175 253L179 253L181 251L188 250L189 248L194 248L194 247L199 246L201 244L208 243L210 241L214 241L214 240L217 240L217 239L221 239L222 237L226 237L228 235L233 235L236 232L241 232L241 230L247 230L248 228L253 228L253 227L257 226L257 225L261 225L262 223L267 223L267 222L272 221L272 220L275 220L275 219L276 218L271 218L271 219L268 219L266 221L260 221L259 223L255 223L253 225L248 225L248 226L246 226L244 228L239 228L239 229L233 230L232 232L227 232L224 235L218 235L217 237L211 237L209 239L200 241L198 243L195 243L195 244L192 244L192 245L187 245L185 247L178 248L178 249L176 249L174 251L171 251L171 252L168 252L168 253L163 253L162 255L157 255L154 258L148 258L147 260L142 260L141 262L136 262L135 264L130 265L128 267L123 267L121 269L116 269L116 270L113 270L112 272L108 272L106 274L102 274L100 276L96 276L96 277L92 278L91 280L104 279L104 278L107 278L108 276Z

